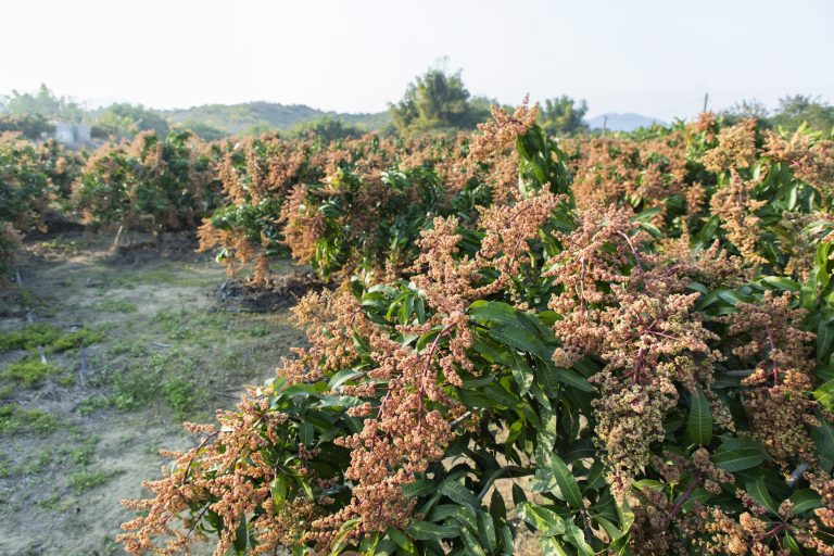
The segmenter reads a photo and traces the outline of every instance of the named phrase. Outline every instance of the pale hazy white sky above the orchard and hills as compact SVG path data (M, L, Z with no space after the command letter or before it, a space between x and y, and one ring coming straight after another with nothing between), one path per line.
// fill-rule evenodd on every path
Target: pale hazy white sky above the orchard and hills
M377 112L443 56L475 94L567 93L592 116L687 116L707 91L834 101L831 0L14 0L0 22L0 92L153 108Z

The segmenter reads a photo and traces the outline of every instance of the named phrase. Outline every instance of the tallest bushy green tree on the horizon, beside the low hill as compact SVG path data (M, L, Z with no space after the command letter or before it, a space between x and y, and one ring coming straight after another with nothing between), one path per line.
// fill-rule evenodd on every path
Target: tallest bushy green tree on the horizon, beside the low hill
M472 129L489 117L489 104L470 96L459 71L430 68L408 85L403 99L390 111L401 135L415 135Z

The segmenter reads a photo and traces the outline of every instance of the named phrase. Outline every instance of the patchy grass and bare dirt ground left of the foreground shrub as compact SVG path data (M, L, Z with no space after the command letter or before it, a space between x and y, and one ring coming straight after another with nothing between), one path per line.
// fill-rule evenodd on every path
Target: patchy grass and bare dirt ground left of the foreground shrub
M134 516L118 501L159 476L159 448L193 442L179 424L212 420L302 342L287 311L219 309L211 257L105 248L79 235L27 244L36 327L0 306L0 555L121 554ZM22 345L33 338L49 340L46 366Z

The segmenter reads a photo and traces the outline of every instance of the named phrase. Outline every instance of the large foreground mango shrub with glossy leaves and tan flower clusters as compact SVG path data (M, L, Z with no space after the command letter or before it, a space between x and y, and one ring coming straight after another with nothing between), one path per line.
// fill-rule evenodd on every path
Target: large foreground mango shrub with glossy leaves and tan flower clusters
M541 129L495 119L472 150L515 143L523 194L434 218L401 279L305 298L309 346L188 426L200 446L127 503L128 552L511 554L515 513L547 554L830 553L832 243L795 280L762 219L744 242L577 208ZM747 129L705 160L718 191ZM744 210L798 187L774 184Z

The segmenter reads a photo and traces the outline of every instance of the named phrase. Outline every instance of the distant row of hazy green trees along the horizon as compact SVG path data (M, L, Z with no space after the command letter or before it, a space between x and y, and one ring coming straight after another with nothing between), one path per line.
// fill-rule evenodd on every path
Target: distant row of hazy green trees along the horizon
M405 89L403 98L389 105L388 124L381 125L383 115L344 117L325 115L280 130L269 122L250 125L242 132L231 134L226 118L248 117L249 122L258 122L260 104L240 106L208 106L211 123L204 118L186 117L179 123L172 123L165 114L142 106L141 104L116 103L104 109L86 110L83 105L66 97L54 94L46 85L35 92L12 91L11 96L0 98L0 132L20 131L25 137L37 139L53 130L52 121L87 123L92 126L94 138L127 139L146 130L153 130L166 136L172 129L189 129L200 138L211 141L229 135L257 136L264 132L279 132L285 137L316 136L325 141L358 137L372 128L383 134L401 137L432 134L452 134L473 129L479 123L490 117L490 106L500 104L486 97L472 96L464 84L462 72L447 72L431 67L415 77ZM280 106L290 114L299 116L301 110L315 113L306 106ZM223 109L230 109L225 111ZM250 114L239 114L251 110ZM293 112L295 111L295 112ZM584 117L587 103L574 100L566 94L545 99L540 104L539 124L551 136L564 137L589 132ZM796 129L807 123L811 129L830 131L834 128L834 106L819 98L795 94L780 100L774 111L756 100L738 102L720 113L730 123L756 117L764 127ZM262 116L263 117L263 116ZM285 117L286 114L285 114ZM285 119L286 122L286 119ZM215 125L216 124L216 125Z

